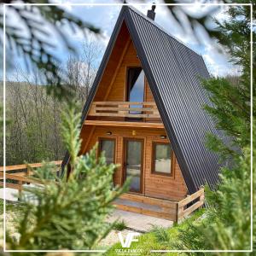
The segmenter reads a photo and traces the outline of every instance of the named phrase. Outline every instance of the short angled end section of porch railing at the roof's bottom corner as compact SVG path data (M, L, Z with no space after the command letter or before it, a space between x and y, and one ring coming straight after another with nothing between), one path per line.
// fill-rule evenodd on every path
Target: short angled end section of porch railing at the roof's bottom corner
M177 203L177 221L187 217L191 212L203 206L205 201L205 191L200 189L192 195L188 195ZM188 206L189 205L189 206Z

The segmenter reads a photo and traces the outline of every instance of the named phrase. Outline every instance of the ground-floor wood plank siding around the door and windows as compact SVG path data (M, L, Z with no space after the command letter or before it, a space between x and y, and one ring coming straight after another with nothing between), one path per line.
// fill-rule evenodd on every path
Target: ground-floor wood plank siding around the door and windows
M111 136L107 136L108 131L112 132ZM136 136L132 135L132 131L136 132ZM167 139L160 139L160 135L166 135L163 129L136 128L127 127L99 127L96 126L93 135L90 137L88 147L84 149L84 153L90 150L99 137L109 137L116 139L115 162L119 164L118 170L114 174L114 183L122 184L123 179L123 152L124 137L142 138L144 140L144 170L143 170L143 195L156 198L169 199L179 201L187 194L186 184L184 183L182 173L175 160L174 177L167 177L159 174L153 174L152 171L152 151L153 143L166 143Z

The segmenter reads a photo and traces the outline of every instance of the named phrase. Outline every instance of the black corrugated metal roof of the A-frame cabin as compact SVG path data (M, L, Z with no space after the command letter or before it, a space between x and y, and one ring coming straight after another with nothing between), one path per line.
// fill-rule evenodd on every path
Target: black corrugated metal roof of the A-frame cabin
M124 6L120 11L90 96L84 105L82 123L123 21L142 63L189 193L194 193L205 183L213 187L218 182L218 156L210 152L205 143L207 132L217 134L218 131L202 109L203 105L209 103L200 82L201 78L209 77L207 67L201 55L177 41L137 9Z

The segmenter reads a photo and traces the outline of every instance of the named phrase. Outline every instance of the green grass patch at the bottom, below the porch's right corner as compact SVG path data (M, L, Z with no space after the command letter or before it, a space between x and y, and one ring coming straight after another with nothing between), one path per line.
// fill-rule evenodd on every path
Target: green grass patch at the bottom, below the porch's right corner
M186 229L189 224L199 218L204 209L195 212L190 218L185 219L181 224L174 224L172 228L164 229L158 226L152 227L148 233L138 236L137 242L132 242L130 249L141 249L141 255L152 255L150 250L171 250L172 242L177 240L180 230ZM106 255L116 255L116 249L123 249L120 243L116 243L111 247ZM162 255L162 253L154 253L154 255ZM165 255L181 255L181 253L166 253Z

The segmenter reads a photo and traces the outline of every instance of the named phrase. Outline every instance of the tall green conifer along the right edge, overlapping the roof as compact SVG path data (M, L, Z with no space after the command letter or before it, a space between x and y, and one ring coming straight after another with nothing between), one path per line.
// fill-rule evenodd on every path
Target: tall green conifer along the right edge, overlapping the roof
M207 146L218 153L223 163L229 160L230 165L221 169L216 190L207 189L209 209L206 218L179 233L179 241L173 245L179 249L250 249L250 9L232 7L228 15L229 20L218 23L218 43L230 54L233 64L241 67L241 77L238 84L232 84L228 79L212 78L203 81L203 85L213 103L205 109L215 120L218 130L229 138L209 134ZM255 180L253 185L255 188ZM255 244L255 236L253 240Z

